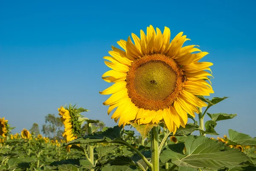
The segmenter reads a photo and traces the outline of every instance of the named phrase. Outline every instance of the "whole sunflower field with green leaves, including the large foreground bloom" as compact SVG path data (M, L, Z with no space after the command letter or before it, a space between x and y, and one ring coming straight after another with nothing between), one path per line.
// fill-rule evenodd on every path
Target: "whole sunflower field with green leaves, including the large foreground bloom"
M256 171L256 138L232 129L211 137L236 114L207 112L228 98L206 98L214 93L212 63L200 61L208 53L183 46L183 32L170 35L149 26L104 57L111 86L99 93L111 95L103 104L113 128L72 104L58 108L58 139L25 128L12 134L15 125L0 118L0 171Z

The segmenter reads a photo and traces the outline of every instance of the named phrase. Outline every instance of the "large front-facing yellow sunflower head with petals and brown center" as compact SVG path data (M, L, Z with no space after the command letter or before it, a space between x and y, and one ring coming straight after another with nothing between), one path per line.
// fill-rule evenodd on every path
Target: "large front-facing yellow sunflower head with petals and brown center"
M170 42L170 29L147 27L147 35L141 30L140 38L117 43L122 49L112 46L111 56L105 56L105 64L112 70L105 72L102 79L114 83L99 92L112 94L103 104L109 105L119 126L127 123L149 124L165 122L175 133L185 127L189 115L195 117L198 107L207 106L197 96L214 93L208 76L210 62L198 62L207 55L197 45L183 46L190 39L180 32Z

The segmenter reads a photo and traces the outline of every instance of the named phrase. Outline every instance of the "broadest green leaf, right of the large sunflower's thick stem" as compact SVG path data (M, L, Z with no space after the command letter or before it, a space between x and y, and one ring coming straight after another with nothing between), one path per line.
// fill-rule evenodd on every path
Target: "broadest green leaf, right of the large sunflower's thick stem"
M171 162L177 166L192 168L220 169L243 165L250 158L238 150L221 151L222 143L208 139L205 136L189 136L185 140L186 155L165 150L160 156L161 162Z

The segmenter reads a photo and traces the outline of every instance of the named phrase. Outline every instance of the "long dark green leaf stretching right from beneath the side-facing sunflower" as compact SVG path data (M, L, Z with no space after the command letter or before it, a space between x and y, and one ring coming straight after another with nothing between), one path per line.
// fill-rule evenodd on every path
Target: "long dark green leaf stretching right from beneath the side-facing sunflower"
M115 140L120 138L121 129L119 126L115 126L113 128L108 128L105 131L99 131L81 138L75 139L68 143L64 143L66 145L73 145L73 144L87 144L92 142L114 142Z

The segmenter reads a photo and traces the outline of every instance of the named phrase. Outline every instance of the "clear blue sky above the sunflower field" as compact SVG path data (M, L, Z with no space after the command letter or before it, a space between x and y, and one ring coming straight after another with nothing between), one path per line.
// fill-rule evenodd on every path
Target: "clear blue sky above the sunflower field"
M109 70L102 58L116 41L151 24L169 27L171 38L183 31L209 52L213 96L230 96L209 112L238 114L216 131L256 136L255 6L253 0L0 0L0 117L16 133L41 127L48 113L77 102L90 110L86 117L116 125L102 104L108 96L99 94L110 86L101 78Z

